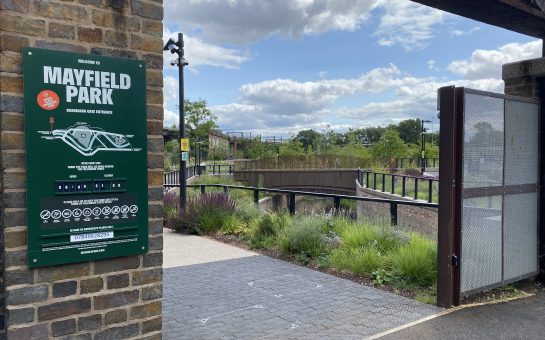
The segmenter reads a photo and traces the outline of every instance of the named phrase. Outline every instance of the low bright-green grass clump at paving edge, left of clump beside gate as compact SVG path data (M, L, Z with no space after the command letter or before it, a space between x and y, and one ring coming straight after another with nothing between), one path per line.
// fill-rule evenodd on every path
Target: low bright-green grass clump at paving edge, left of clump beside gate
M358 275L371 275L384 263L382 254L375 247L337 248L333 250L330 261L334 268Z

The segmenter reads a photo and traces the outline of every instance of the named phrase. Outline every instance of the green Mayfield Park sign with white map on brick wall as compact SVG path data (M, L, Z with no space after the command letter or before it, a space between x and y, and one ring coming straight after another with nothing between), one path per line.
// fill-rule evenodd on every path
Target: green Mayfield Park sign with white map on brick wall
M145 63L23 54L29 267L147 252Z

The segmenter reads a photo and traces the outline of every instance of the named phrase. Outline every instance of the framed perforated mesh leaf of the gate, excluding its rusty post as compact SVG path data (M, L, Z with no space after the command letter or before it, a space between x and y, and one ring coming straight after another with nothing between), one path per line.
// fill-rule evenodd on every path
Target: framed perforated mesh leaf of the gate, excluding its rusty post
M460 291L537 272L537 104L466 89Z

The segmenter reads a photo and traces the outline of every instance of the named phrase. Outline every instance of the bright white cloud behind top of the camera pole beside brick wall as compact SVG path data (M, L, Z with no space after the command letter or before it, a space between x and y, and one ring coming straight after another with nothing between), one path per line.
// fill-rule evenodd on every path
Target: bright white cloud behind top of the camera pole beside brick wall
M168 41L168 38L178 40L176 34L165 30L163 32L163 41ZM189 69L193 71L203 65L238 69L240 65L250 60L250 54L247 51L208 44L187 34L184 34L184 45L184 57L189 62ZM171 67L170 62L175 60L177 55L165 51L163 57L165 66Z

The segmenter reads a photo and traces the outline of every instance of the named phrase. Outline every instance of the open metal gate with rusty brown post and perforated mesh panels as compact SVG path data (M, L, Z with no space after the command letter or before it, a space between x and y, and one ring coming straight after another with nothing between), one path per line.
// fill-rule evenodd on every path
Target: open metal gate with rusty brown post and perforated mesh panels
M537 275L540 118L537 101L439 90L437 300Z

